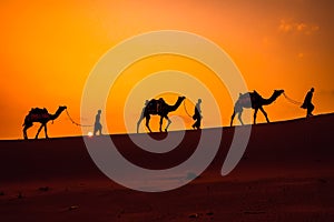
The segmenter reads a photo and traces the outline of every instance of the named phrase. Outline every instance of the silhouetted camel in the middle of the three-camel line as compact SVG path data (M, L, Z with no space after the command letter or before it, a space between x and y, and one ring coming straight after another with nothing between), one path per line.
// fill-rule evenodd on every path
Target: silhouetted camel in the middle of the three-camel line
M144 118L146 119L147 129L149 130L149 132L151 132L151 130L149 128L149 119L150 119L151 114L160 115L160 128L159 128L160 132L163 132L161 125L163 125L164 118L168 121L166 129L165 129L165 132L167 132L168 127L171 123L171 121L168 118L168 113L177 110L177 108L181 104L181 102L185 99L186 99L185 97L178 97L178 99L174 105L167 104L163 98L160 98L158 100L155 100L155 99L153 99L150 101L147 100L145 107L143 108L141 115L137 122L137 133L139 132L139 124L144 120Z

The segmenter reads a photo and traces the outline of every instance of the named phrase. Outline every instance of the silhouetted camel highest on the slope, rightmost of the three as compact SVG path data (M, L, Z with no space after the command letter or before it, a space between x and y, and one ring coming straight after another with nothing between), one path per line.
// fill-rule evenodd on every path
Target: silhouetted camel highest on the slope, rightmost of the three
M267 117L267 113L264 111L263 105L272 104L282 93L284 90L274 90L274 93L271 98L264 99L262 98L255 90L254 92L247 92L244 94L239 94L238 100L236 101L234 105L234 112L230 117L230 127L233 124L233 120L236 113L238 113L238 119L242 124L244 124L242 120L242 113L244 108L252 108L254 109L254 124L256 124L256 114L257 111L261 110L266 118L267 122L269 123L269 119Z

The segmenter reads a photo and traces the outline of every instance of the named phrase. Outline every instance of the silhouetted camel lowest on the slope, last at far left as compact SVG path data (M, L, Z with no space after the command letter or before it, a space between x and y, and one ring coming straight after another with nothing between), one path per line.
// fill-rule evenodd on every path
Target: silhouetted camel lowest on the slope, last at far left
M48 137L47 123L50 120L52 120L52 121L56 120L60 115L60 113L66 109L67 109L67 107L59 107L55 114L50 114L46 108L31 109L30 112L28 113L28 115L24 118L24 123L22 124L22 127L24 127L23 128L24 140L28 140L27 130L32 127L33 122L41 123L40 128L37 131L35 139L38 139L38 134L42 128L45 128L46 139L48 139L49 137Z

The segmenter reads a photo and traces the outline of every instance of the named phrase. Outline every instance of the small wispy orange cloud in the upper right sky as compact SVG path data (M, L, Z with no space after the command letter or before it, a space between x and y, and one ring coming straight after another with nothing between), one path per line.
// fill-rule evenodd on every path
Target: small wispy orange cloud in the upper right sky
M284 33L303 33L312 34L320 30L320 27L315 23L286 21L281 19L278 30Z

